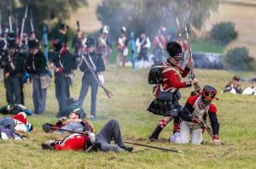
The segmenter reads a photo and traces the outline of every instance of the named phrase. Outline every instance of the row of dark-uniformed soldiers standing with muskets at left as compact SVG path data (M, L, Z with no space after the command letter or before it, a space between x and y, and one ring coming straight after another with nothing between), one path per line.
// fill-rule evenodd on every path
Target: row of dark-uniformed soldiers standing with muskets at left
M47 88L51 81L51 70L54 71L55 96L59 105L59 112L73 104L70 94L70 87L73 84L74 73L79 66L84 72L82 87L78 104L83 106L84 98L91 88L91 108L90 117L96 118L96 94L98 82L92 76L91 70L100 72L105 70L102 54L96 51L96 41L91 37L86 37L85 42L80 47L79 53L72 54L68 47L67 25L60 25L55 40L52 42L54 51L47 60L41 51L37 39L29 39L26 33L23 35L22 45L17 40L15 32L10 32L8 36L2 36L1 46L1 68L3 69L4 86L6 87L6 99L8 104L25 104L23 84L29 77L32 82L32 98L34 113L42 114L46 107ZM90 66L86 65L84 59L88 59ZM51 70L49 70L51 69Z

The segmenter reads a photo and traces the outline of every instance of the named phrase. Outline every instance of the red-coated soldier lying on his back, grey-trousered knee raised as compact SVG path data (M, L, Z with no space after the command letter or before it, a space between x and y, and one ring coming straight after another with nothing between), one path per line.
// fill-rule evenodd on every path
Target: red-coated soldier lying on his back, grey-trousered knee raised
M114 141L114 144L110 144L112 140ZM73 133L62 140L46 141L42 144L42 149L84 150L85 152L93 150L131 152L133 147L125 146L119 128L119 122L110 120L96 135L94 132L89 131L86 131L83 134L81 132Z

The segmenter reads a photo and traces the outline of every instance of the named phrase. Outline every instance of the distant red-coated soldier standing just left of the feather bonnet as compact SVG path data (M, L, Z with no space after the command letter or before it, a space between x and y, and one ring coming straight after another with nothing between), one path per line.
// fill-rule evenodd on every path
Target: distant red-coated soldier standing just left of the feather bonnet
M164 59L164 50L166 46L166 37L164 36L165 27L162 27L153 39L154 61L162 61Z

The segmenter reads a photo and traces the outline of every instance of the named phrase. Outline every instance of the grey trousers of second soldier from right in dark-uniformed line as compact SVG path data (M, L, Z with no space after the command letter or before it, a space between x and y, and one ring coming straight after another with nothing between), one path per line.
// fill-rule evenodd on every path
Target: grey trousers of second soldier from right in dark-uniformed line
M67 106L67 101L70 99L70 85L69 77L65 77L63 73L55 74L55 96L59 104L59 112Z

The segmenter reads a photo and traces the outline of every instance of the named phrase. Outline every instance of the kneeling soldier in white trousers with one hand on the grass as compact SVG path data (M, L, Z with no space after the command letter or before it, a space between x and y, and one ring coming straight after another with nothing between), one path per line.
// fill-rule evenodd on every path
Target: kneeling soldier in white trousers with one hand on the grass
M190 96L180 113L182 122L180 124L180 132L176 132L170 138L172 143L188 144L189 135L191 133L191 144L201 144L202 142L202 124L207 127L207 119L210 120L212 127L212 142L221 144L218 138L218 117L217 108L212 104L217 91L214 87L206 85L200 96Z

